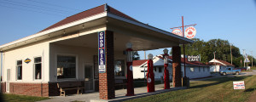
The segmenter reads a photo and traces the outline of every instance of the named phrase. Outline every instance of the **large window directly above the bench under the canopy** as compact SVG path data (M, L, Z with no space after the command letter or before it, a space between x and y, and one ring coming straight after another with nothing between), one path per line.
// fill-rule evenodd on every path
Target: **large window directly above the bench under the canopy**
M76 78L76 57L57 56L57 78Z

